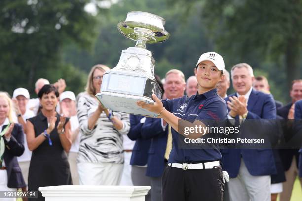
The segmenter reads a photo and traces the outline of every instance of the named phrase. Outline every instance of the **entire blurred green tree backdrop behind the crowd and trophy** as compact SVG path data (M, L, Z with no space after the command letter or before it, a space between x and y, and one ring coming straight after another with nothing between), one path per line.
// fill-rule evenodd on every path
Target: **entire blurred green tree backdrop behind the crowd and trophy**
M203 52L223 55L226 68L250 64L267 76L276 100L289 100L288 86L302 73L302 0L119 0L93 16L89 2L102 0L1 0L0 90L34 92L34 82L66 79L68 90L83 91L95 64L113 68L135 41L117 24L127 12L163 17L171 37L147 49L161 78L172 68L188 78ZM232 89L228 94L232 93Z

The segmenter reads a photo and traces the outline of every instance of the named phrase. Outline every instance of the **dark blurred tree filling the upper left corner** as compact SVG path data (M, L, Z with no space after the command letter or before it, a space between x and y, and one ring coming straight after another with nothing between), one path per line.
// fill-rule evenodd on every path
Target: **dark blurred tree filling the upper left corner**
M84 11L90 0L1 0L0 89L12 94L25 87L34 94L35 81L65 78L78 92L83 72L62 62L61 50L73 43L89 49L96 39L97 19ZM66 77L64 77L66 76Z

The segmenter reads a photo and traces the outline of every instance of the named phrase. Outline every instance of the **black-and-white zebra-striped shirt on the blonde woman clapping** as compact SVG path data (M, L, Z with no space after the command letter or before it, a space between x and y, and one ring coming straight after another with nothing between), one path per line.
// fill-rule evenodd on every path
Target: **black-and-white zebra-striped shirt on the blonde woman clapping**
M93 129L88 128L88 118L97 110L99 102L88 93L77 97L77 117L80 125L80 145L77 161L92 163L124 162L123 134L130 130L129 114L114 112L114 116L123 123L121 130L116 130L112 122L102 112Z

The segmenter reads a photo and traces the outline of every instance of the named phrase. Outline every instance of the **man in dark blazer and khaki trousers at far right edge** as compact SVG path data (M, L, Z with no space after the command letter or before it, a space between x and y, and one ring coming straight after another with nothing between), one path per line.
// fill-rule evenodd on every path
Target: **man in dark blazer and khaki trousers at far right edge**
M302 99L302 79L292 82L292 88L289 94L292 101L277 110L277 114L285 120L294 119L295 102ZM287 128L286 132L290 134L293 130L292 128ZM299 153L298 149L281 149L279 153L286 178L286 182L283 183L283 192L280 194L280 201L289 201L298 174Z

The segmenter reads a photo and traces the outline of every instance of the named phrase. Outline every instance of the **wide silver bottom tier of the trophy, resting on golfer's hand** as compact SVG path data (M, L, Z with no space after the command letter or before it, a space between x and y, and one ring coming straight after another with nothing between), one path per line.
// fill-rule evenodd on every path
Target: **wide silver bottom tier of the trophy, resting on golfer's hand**
M148 97L114 92L100 92L95 96L104 105L104 107L110 108L112 111L115 112L124 112L128 114L142 115L147 117L156 116L156 113L150 112L136 105L137 101L143 101L149 104L154 104L154 101Z

